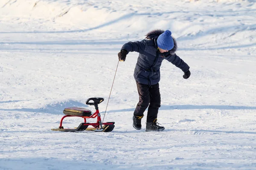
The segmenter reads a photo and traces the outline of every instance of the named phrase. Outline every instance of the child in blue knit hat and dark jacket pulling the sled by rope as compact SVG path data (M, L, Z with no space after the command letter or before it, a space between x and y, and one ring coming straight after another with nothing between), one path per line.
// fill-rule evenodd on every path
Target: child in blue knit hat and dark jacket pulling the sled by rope
M184 79L190 76L189 65L175 54L177 43L172 37L171 31L158 29L149 32L146 36L142 41L125 43L118 53L118 57L119 61L125 61L129 52L139 53L134 69L139 102L134 111L133 127L137 130L141 129L141 119L144 116L144 111L148 108L146 131L162 131L164 127L157 123L157 113L161 103L158 82L160 81L162 61L167 59L180 68L184 72Z

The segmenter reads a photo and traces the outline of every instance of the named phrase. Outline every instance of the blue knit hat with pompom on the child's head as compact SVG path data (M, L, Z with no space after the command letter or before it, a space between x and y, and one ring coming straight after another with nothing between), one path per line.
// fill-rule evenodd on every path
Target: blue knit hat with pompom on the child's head
M171 50L174 47L172 32L169 30L164 31L164 33L157 38L157 46L163 50Z

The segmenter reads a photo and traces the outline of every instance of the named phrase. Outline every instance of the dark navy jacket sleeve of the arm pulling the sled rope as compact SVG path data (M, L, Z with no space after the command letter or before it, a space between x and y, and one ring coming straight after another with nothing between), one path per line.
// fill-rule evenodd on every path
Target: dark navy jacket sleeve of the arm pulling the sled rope
M146 42L145 40L143 41L136 41L136 42L127 42L125 43L121 50L126 50L128 53L136 51L138 53L143 53L146 47Z

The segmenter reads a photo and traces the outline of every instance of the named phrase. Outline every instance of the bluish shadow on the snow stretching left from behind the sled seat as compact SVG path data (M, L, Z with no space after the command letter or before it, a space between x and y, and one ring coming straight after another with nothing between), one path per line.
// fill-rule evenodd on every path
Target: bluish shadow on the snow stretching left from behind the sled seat
M6 101L6 102L19 102L17 101ZM2 102L4 103L4 102ZM20 112L34 112L34 113L51 113L51 114L63 114L64 108L68 107L88 107L88 105L85 105L81 102L77 102L74 100L68 100L65 102L57 102L53 104L48 104L44 108L21 108L21 109L3 109L0 108L0 111L20 111Z

